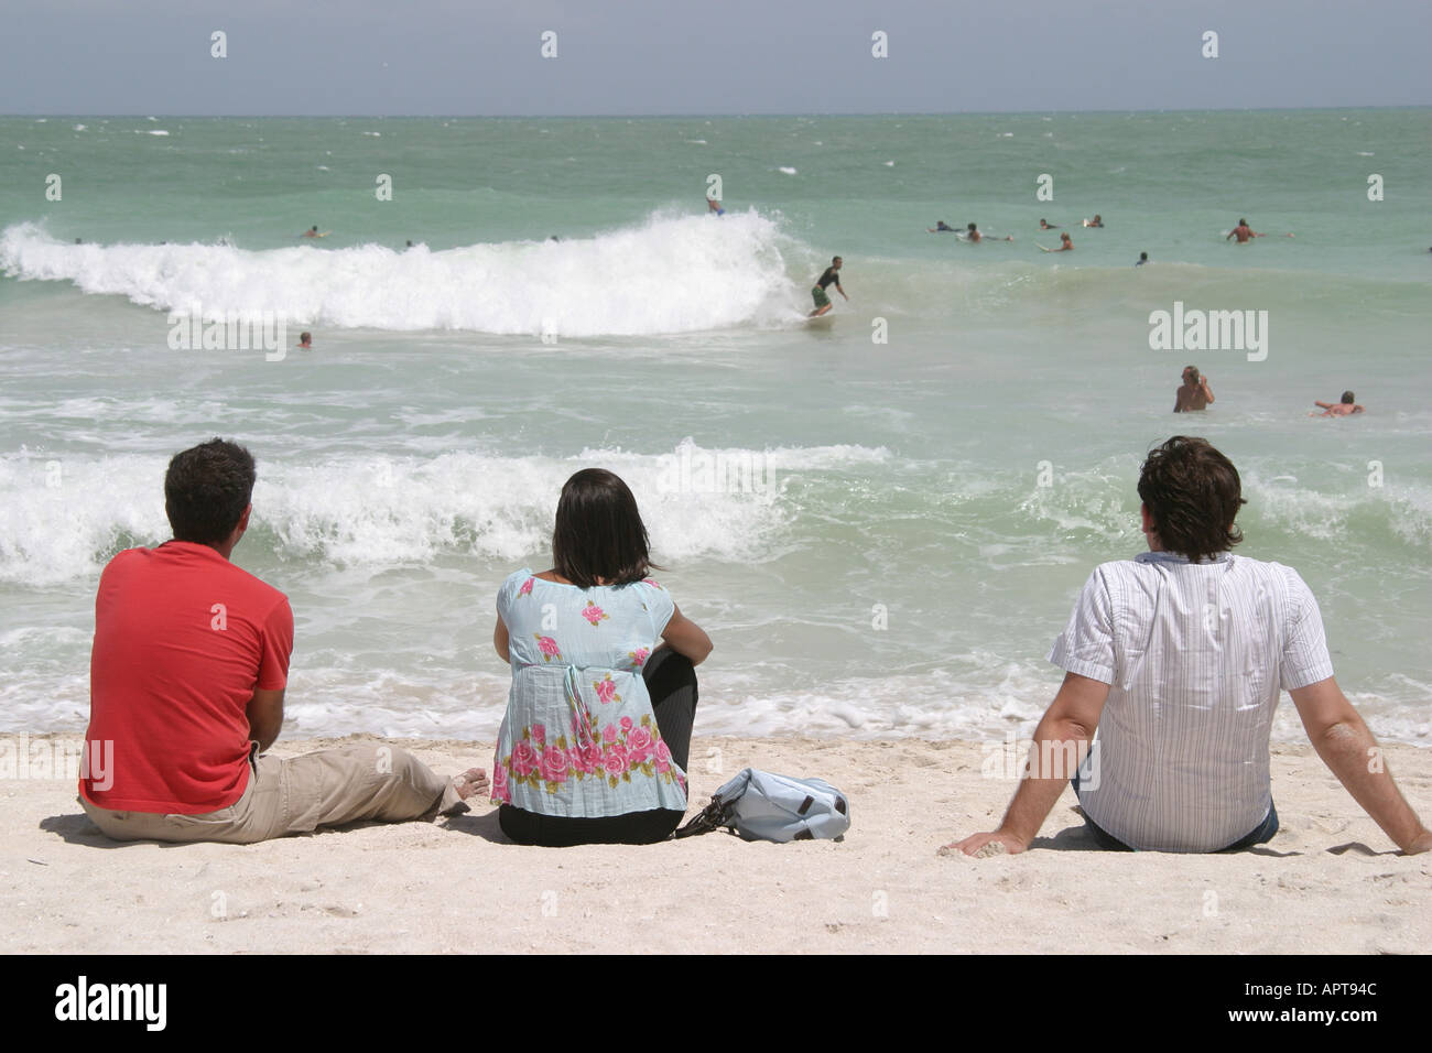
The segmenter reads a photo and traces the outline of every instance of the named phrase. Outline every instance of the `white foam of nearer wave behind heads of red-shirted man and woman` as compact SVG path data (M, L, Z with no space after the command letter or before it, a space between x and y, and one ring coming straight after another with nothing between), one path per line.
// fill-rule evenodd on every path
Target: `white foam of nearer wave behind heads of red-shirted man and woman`
M759 487L680 486L686 463L755 461ZM786 480L802 471L881 464L882 448L712 450L657 454L583 450L574 457L447 453L430 458L344 457L265 463L252 530L281 559L378 566L428 563L444 552L513 562L546 550L561 484L607 467L632 487L659 559L759 559L793 510ZM0 457L0 582L42 587L95 574L125 544L169 537L165 456L102 460ZM672 480L677 484L673 486ZM768 486L769 483L769 486Z

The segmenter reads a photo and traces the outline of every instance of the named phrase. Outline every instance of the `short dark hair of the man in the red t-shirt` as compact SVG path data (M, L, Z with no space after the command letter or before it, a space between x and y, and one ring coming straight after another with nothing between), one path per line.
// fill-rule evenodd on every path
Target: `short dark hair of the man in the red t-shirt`
M219 544L233 533L253 496L253 457L212 438L176 453L165 473L165 514L176 542Z

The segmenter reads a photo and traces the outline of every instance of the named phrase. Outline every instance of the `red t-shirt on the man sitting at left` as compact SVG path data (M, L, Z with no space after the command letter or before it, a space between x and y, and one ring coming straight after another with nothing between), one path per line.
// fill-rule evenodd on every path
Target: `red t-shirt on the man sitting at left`
M285 686L292 650L288 597L209 546L115 556L95 597L84 735L113 744L90 745L110 771L92 764L80 794L113 811L228 808L249 782L253 689Z

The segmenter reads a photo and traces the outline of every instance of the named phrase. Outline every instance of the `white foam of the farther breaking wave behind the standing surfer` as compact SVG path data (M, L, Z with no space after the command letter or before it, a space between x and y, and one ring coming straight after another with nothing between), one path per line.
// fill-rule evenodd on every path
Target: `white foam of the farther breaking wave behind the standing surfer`
M753 211L441 252L72 245L19 223L0 234L0 271L166 311L274 311L289 325L644 337L776 324L796 298L782 255L792 245Z

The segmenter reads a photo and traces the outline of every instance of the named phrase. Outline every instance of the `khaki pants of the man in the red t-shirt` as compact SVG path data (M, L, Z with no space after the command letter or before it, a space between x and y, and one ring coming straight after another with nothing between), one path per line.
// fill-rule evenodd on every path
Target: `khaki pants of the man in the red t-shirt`
M448 779L398 746L348 746L302 756L249 758L243 795L203 815L116 812L80 805L115 841L252 844L359 819L405 822L467 811Z

